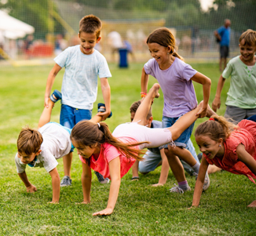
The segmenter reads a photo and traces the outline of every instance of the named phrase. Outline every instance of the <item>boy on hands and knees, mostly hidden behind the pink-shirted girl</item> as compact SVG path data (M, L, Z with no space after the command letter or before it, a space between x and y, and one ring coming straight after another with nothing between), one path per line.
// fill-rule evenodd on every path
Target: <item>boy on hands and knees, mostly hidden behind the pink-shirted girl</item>
M134 102L130 106L130 120L133 121L134 115L137 111L137 108L141 105L141 100ZM148 115L145 118L145 126L151 129L155 128L162 128L162 122L156 121L153 119L152 116L152 107L148 111ZM188 146L186 147L188 151L190 151L193 155L193 158L196 159L196 162L199 162L197 156L196 156L196 150L195 147L192 144L192 141L188 140ZM148 172L151 172L155 170L159 165L162 165L161 174L159 178L159 183L155 183L152 186L163 186L166 183L168 173L169 173L169 163L168 159L166 158L166 154L164 153L163 147L154 147L154 148L148 148L148 151L143 156L144 160L142 162L136 161L133 164L132 170L133 170L133 177L132 180L139 180L138 172L140 171L142 174L147 174ZM188 172L190 175L193 174L194 170L191 168L190 165L188 165L186 162L181 161L181 164L183 165L186 172Z

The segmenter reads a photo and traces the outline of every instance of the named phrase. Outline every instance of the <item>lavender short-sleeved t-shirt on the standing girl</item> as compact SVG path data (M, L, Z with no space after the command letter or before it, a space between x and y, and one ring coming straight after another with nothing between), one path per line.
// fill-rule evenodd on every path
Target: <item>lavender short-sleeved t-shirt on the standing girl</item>
M197 107L191 80L197 71L190 65L176 57L173 64L163 71L155 59L150 59L144 64L144 71L157 79L163 91L163 116L177 118Z

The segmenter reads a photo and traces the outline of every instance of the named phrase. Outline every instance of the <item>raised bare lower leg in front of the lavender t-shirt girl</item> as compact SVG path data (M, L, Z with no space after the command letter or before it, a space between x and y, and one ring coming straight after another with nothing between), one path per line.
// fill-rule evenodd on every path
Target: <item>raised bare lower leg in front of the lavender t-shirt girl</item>
M154 84L152 86L152 88L148 92L148 95L144 97L141 105L137 108L137 111L133 118L133 122L138 122L139 125L144 125L144 120L148 115L148 111L152 105L152 100L154 100L155 97L159 97L159 89L159 84Z

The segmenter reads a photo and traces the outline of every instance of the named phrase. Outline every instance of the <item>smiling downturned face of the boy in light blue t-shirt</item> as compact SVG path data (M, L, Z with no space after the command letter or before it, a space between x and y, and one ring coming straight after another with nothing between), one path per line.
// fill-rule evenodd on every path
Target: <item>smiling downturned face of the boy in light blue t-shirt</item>
M97 38L96 34L86 32L79 33L80 50L83 54L90 55L94 52L95 45L100 42L101 37Z

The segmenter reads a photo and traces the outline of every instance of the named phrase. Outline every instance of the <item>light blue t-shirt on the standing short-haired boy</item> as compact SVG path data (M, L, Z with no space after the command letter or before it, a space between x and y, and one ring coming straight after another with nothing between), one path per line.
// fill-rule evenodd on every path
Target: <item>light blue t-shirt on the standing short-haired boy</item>
M65 67L61 103L79 109L93 109L97 99L98 76L112 77L104 56L96 49L93 54L86 55L81 52L80 45L75 45L65 49L54 61Z

